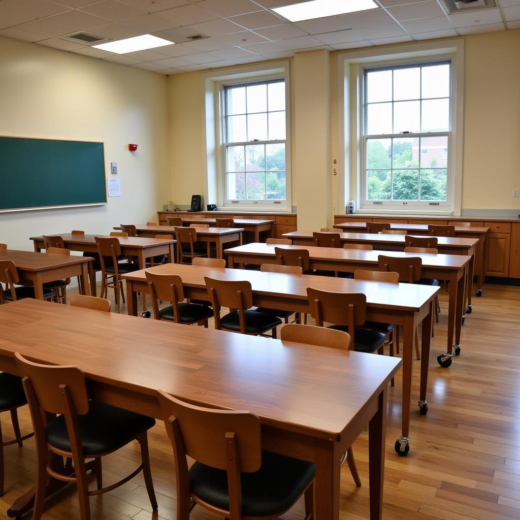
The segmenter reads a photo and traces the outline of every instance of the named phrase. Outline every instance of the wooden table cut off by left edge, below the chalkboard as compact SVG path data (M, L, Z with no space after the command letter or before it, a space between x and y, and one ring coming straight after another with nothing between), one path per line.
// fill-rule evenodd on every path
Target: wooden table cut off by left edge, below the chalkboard
M80 277L80 292L88 292L88 265L93 258L88 256L64 256L6 249L0 251L0 260L12 260L20 277L20 283L34 285L38 300L43 300L43 284L63 278Z

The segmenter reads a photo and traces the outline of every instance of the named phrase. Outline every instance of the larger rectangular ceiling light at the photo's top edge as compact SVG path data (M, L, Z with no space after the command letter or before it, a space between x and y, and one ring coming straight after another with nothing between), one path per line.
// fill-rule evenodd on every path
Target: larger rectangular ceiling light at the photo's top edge
M379 7L373 0L311 0L302 4L271 9L291 22L344 15L347 12L365 11Z

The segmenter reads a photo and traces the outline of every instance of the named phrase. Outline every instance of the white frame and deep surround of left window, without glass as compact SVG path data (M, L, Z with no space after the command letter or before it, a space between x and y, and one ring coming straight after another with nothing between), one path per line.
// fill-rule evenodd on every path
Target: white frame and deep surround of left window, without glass
M223 72L225 74L223 75ZM224 88L246 83L283 80L285 82L285 200L230 200L227 199L226 158L225 158L225 108ZM290 103L290 68L289 61L270 62L269 66L252 65L219 74L202 75L203 82L203 126L206 154L203 158L205 168L205 200L216 201L217 208L222 210L253 212L291 212L292 211L292 178L291 178L291 103ZM257 144L277 141L255 141ZM280 142L280 141L278 141ZM241 143L237 143L240 145ZM247 142L245 144L251 144Z

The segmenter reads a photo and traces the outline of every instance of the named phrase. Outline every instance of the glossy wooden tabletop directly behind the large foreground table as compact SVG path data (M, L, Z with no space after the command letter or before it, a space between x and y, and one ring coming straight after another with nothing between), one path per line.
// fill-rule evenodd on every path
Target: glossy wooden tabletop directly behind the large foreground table
M399 308L414 312L417 312L438 290L438 287L429 285L379 283L348 278L288 275L279 272L210 268L185 264L164 264L146 270L161 274L179 275L183 280L183 284L187 287L196 288L205 287L205 276L219 280L248 280L251 283L253 293L290 295L301 300L307 300L308 287L322 291L359 292L366 294L367 305L370 307ZM122 278L145 281L145 269L123 275Z

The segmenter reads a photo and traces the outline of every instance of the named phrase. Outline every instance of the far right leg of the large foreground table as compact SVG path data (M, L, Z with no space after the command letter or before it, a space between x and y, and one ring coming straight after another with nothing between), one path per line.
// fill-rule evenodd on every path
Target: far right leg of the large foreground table
M385 470L387 387L378 396L378 411L368 423L368 476L370 481L370 520L381 520Z

